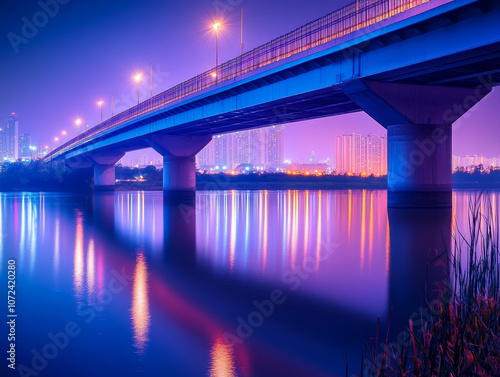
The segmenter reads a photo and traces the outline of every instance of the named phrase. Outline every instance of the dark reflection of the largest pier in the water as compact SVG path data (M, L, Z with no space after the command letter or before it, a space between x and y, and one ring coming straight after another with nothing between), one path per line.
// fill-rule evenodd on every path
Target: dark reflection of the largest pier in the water
M419 318L419 308L439 298L449 282L451 208L389 208L390 267L387 312L393 308L391 333Z

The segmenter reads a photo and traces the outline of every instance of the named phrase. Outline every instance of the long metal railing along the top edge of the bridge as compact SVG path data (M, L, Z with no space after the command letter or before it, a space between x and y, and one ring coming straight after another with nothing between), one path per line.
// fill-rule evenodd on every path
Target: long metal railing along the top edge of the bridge
M102 131L109 130L127 120L166 106L183 97L343 37L429 1L358 0L105 120L54 149L45 158L55 157L64 149L74 146L82 140L89 139Z

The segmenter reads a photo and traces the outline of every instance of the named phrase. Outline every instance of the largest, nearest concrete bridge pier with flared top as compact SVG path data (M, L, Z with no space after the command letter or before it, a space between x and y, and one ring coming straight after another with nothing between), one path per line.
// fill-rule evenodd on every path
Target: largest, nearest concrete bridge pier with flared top
M388 206L451 206L452 124L491 88L355 80L344 89L387 129Z

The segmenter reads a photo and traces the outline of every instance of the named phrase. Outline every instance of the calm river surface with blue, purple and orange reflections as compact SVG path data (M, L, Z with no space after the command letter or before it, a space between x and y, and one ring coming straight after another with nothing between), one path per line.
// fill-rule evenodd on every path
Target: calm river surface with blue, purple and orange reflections
M392 309L397 337L447 278L426 265L466 229L470 195L454 192L451 209L388 210L386 192L370 190L0 194L18 367L333 376L347 354L359 373L377 319L387 328ZM500 192L488 195L499 211Z

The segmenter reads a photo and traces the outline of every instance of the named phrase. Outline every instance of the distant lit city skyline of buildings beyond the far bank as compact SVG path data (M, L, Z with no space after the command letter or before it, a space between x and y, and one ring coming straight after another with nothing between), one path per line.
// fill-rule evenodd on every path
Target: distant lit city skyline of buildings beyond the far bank
M43 144L33 146L31 144L31 134L29 132L20 132L17 118L17 114L10 114L6 118L5 127L0 128L0 160L8 159L13 161L17 159L41 157L41 152L44 150L39 149L43 147ZM273 135L279 135L279 142L277 143L279 147L277 150L275 148L275 150L271 152L271 154L274 153L274 160L273 164L269 164L266 160L266 157L269 157L267 152L269 147L266 145L269 139L266 139L266 136L269 130L272 129L279 130L279 133L273 133ZM292 160L284 158L286 146L284 142L285 130L285 126L271 126L214 136L212 142L197 154L197 166L198 168L204 167L209 170L214 170L214 168L227 170L239 164L249 164L262 170L269 170L269 167L272 166L272 171L276 171L277 166L281 167L281 165L284 165L287 161L291 164L305 165L307 165L307 163L321 162L324 163L325 167L329 166L332 168L337 174L387 174L387 135L361 135L355 132L349 132L335 137L333 151L335 157L333 159L330 157L317 158L316 151L312 150L307 156L298 160ZM356 142L353 142L354 139ZM343 142L341 142L341 140L343 140ZM246 141L246 143L242 144L242 141ZM357 161L354 163L345 162L347 157L342 157L343 152L341 150L339 151L339 148L342 148L342 146L345 148L346 143L351 144L350 148L357 148L354 155ZM374 148L372 149L372 156L370 156L369 146ZM362 149L364 149L365 152L362 152ZM384 149L385 153L381 153ZM378 165L376 167L372 162L374 159L373 154L375 154L375 158L378 160ZM314 156L314 161L311 160L311 155ZM332 161L333 164L331 163ZM127 153L119 163L124 166L161 166L162 158L160 154L152 149L143 149ZM355 167L351 164L355 164ZM500 167L500 153L498 157L485 157L483 154L465 154L462 156L455 153L452 154L453 171L457 170L457 168L472 169L479 165L483 165L485 168ZM300 168L298 170L300 170Z

